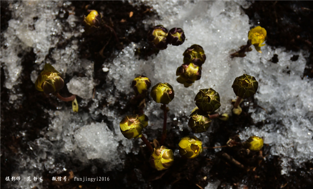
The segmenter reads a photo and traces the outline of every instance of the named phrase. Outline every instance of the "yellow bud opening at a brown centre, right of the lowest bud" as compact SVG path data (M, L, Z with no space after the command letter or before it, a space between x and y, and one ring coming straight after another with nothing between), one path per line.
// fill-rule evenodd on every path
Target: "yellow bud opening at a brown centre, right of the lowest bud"
M178 146L182 157L195 158L203 151L202 141L194 136L182 137Z

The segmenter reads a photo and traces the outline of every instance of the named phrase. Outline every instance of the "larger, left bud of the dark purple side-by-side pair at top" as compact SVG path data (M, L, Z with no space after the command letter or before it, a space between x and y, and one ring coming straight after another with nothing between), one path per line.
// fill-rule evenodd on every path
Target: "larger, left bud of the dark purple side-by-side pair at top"
M167 34L168 31L162 25L157 25L148 32L147 39L156 48L162 50L167 48Z

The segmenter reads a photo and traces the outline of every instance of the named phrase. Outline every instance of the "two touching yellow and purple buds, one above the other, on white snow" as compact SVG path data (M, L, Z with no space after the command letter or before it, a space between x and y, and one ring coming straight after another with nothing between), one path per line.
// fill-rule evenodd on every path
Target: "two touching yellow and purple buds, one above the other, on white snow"
M200 45L192 45L188 47L183 53L184 60L182 66L177 68L176 75L177 82L184 84L185 87L189 87L195 81L201 78L202 64L204 63L206 56L203 48Z

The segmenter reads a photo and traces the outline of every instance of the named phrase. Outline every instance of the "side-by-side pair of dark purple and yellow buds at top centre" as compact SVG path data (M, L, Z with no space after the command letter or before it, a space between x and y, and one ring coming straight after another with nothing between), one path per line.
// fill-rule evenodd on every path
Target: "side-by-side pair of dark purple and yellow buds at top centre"
M149 30L147 39L153 47L163 50L167 48L168 44L174 46L181 45L185 41L185 34L182 28L174 27L167 30L162 25L157 25L153 29Z

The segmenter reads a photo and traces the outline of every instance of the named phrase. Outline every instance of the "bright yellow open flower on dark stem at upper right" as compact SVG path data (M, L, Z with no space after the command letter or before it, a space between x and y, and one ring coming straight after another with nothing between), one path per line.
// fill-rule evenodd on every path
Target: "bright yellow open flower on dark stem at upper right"
M254 45L255 50L260 53L262 53L261 47L265 45L261 43L265 41L266 37L266 30L261 26L252 28L248 33L249 43Z

